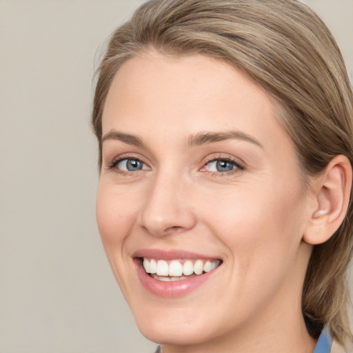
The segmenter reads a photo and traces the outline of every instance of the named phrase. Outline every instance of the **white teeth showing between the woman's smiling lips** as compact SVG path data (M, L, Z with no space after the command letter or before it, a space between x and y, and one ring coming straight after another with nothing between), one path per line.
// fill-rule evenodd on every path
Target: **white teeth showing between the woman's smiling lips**
M157 281L183 281L193 276L211 272L219 265L221 260L183 259L183 260L157 260L141 258L141 264L147 274Z

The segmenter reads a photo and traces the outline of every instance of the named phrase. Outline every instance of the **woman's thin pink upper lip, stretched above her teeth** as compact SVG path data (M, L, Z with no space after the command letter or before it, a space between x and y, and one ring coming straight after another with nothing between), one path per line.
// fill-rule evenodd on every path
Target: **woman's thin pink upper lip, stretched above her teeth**
M162 250L162 249L141 249L132 254L132 257L143 257L156 260L174 260L174 259L205 259L221 260L217 256L208 256L186 250Z

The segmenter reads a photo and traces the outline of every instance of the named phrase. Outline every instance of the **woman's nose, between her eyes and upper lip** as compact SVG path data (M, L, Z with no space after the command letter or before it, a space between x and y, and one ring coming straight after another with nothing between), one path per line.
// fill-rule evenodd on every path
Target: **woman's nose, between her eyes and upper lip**
M139 214L139 225L154 236L192 229L196 216L192 209L190 187L190 183L180 176L160 173L149 186L148 196Z

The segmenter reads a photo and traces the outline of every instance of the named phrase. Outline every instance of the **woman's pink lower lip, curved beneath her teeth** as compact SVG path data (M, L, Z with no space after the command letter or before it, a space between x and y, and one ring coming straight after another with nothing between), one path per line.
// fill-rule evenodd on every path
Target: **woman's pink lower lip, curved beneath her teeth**
M210 277L216 272L217 268L214 270L200 274L199 276L190 277L190 279L182 279L181 281L170 281L163 282L154 279L149 274L145 272L141 265L140 259L134 259L135 265L137 266L137 274L143 285L143 287L148 290L148 292L167 298L173 298L177 296L184 296L192 290L195 290L200 285L208 281Z

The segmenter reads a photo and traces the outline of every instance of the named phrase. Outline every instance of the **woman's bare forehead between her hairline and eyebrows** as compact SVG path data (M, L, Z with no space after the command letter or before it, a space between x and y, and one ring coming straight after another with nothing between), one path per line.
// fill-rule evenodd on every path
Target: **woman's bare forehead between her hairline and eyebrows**
M234 128L234 123L250 128L261 121L275 123L275 110L270 94L223 61L150 52L126 61L114 77L103 112L103 134L113 124L136 128L136 123L148 121L153 126L161 117L164 124L199 129L215 122L224 128Z

